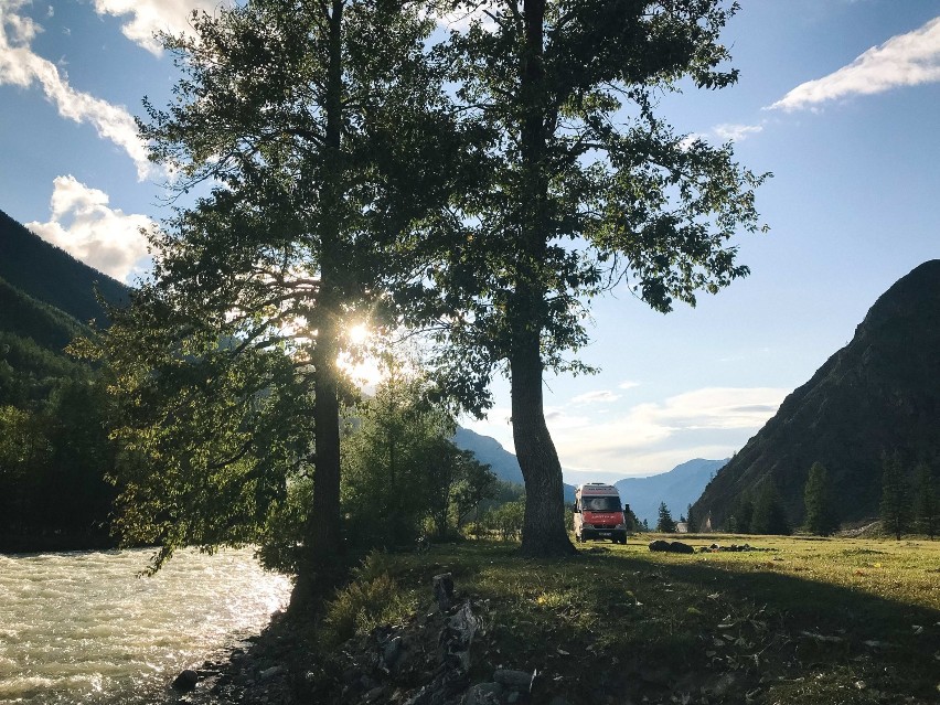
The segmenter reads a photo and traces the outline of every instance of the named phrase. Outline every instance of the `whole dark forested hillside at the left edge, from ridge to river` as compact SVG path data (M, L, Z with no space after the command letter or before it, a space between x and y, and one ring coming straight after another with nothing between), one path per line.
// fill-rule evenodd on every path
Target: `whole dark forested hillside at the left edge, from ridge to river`
M0 270L0 551L109 545L109 402L65 348L127 289L3 213Z

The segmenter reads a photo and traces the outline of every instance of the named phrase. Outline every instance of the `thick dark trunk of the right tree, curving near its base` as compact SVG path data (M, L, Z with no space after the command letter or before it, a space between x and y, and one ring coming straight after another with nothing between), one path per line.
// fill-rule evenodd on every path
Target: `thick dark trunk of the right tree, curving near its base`
M526 556L565 556L575 552L565 531L565 492L562 463L545 424L542 397L541 338L545 324L545 287L542 267L547 243L546 199L546 87L543 44L545 0L525 0L525 43L520 64L521 125L525 174L523 222L520 228L515 293L512 310L513 442L525 480L525 521L522 553Z

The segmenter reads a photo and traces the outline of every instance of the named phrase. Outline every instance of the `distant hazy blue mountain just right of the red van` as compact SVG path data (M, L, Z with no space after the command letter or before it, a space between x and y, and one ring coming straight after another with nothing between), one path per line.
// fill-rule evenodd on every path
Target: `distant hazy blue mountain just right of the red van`
M615 482L622 499L640 521L656 525L660 503L665 502L672 517L679 521L690 504L701 495L705 485L725 463L725 460L696 458L676 466L669 472L649 478L628 478Z

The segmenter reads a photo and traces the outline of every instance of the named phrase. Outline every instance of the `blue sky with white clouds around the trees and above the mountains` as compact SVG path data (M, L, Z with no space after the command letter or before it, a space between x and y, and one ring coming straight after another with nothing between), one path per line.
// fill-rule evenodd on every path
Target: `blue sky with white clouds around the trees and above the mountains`
M169 216L133 116L178 74L154 30L215 0L0 0L0 210L120 280L146 273L138 229ZM743 0L717 92L664 94L677 131L734 141L773 178L767 234L735 241L751 274L655 313L596 301L592 376L548 375L546 416L569 483L731 456L844 346L866 311L940 257L940 0ZM509 386L487 419L512 451Z

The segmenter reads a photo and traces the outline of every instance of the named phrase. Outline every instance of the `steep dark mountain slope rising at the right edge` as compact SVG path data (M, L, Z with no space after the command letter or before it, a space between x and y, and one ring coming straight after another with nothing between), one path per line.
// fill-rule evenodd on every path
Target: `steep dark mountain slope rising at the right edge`
M940 260L895 282L852 341L780 405L777 415L722 469L695 504L723 526L740 498L772 481L792 525L804 517L810 467L829 471L844 522L878 513L882 455L910 470L940 462Z

